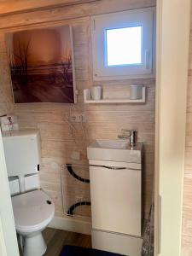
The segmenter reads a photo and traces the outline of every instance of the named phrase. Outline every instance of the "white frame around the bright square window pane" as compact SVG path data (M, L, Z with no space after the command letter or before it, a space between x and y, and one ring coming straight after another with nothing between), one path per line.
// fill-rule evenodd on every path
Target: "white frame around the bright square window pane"
M108 66L107 30L143 26L142 64ZM154 77L154 8L134 9L91 18L93 79Z

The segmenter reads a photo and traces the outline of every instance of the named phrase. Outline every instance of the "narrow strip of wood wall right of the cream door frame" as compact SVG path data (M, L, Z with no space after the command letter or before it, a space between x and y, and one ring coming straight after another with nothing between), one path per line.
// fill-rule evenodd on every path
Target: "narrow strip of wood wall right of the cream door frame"
M182 256L192 255L192 23L190 32L189 84L187 96L185 172L183 179Z

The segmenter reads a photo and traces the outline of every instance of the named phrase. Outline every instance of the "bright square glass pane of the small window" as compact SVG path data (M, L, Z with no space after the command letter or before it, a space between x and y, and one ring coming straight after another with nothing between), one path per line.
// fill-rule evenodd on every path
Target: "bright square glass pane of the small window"
M142 26L108 29L107 65L133 65L142 63Z

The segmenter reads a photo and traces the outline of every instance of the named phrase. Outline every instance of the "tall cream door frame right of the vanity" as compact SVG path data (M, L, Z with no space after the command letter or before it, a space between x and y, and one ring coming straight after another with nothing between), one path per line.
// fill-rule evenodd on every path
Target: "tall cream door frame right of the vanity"
M190 0L157 0L154 255L181 255Z

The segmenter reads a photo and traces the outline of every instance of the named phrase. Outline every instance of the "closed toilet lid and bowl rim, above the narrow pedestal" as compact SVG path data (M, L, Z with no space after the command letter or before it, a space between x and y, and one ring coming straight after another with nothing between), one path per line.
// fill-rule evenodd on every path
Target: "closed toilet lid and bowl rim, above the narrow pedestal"
M32 232L46 227L54 217L55 205L42 190L12 197L16 230Z

